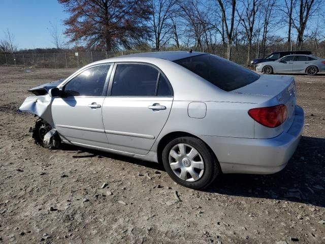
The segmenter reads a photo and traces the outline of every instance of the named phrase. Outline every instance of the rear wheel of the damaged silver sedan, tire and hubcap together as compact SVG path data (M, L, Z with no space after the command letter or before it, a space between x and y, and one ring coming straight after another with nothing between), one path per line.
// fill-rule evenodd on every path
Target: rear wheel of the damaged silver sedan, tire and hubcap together
M194 150L191 151L192 149ZM181 150L185 153L182 154ZM197 156L191 157L196 153ZM212 151L202 140L194 137L171 140L163 150L162 159L169 176L179 185L192 189L208 187L221 172L219 162ZM198 166L199 168L196 168Z

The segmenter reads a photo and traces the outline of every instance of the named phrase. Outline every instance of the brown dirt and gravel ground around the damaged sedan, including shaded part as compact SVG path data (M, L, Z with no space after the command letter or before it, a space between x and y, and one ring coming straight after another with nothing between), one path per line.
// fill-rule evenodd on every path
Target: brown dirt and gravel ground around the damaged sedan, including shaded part
M0 243L325 243L325 74L295 76L306 127L284 170L194 191L154 163L34 144L26 90L74 70L31 71L0 68Z

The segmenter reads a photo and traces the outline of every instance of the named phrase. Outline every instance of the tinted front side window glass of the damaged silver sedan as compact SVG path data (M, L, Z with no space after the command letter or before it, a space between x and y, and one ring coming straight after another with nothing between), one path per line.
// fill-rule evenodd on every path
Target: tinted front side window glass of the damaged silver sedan
M101 97L110 65L89 68L73 78L64 86L67 97Z

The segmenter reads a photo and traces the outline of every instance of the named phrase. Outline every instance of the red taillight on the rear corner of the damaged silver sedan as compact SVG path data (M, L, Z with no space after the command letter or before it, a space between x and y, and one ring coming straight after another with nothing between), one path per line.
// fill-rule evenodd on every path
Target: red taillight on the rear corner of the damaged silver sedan
M285 121L287 110L284 104L280 104L272 107L252 108L248 110L248 114L259 124L275 128Z

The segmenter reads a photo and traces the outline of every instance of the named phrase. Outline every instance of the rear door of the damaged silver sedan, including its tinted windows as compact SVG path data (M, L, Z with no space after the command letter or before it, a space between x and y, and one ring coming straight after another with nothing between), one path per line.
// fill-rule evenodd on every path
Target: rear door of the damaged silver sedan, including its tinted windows
M168 119L173 90L156 67L119 63L103 104L103 123L113 150L146 155Z

